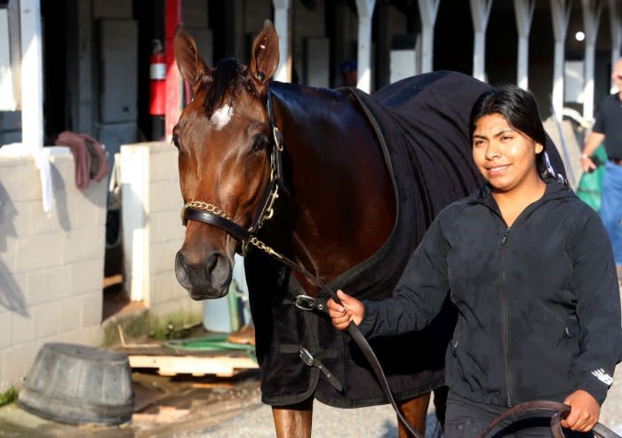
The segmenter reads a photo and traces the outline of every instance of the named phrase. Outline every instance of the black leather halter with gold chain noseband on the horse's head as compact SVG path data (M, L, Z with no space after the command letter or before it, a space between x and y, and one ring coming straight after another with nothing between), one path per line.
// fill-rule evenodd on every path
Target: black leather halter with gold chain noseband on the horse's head
M260 227L263 227L264 221L271 219L275 214L274 205L276 198L279 197L279 184L283 187L283 165L281 161L281 153L283 152L283 136L281 131L276 127L275 114L272 109L272 93L267 90L267 114L270 119L270 130L274 137L274 142L270 147L270 180L261 200L261 208L251 222L251 227L244 228L237 225L227 213L219 207L205 203L203 201L190 201L184 204L181 209L181 223L186 226L188 220L198 220L206 224L213 225L225 230L238 243L240 243L238 251L241 255L245 255L248 251L249 243L257 244L255 233Z

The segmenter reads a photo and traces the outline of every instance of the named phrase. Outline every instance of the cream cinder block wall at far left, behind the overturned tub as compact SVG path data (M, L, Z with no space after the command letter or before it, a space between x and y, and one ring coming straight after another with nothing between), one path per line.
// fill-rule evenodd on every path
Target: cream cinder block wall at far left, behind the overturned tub
M101 341L106 182L78 190L73 156L54 150L49 214L34 160L0 154L0 392L45 342Z

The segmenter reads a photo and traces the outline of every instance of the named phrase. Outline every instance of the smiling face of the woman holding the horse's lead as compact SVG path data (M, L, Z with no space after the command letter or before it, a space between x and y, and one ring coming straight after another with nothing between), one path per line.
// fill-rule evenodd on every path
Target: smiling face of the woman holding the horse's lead
M538 177L536 155L544 147L514 130L500 114L483 115L475 123L473 159L492 188L509 192Z

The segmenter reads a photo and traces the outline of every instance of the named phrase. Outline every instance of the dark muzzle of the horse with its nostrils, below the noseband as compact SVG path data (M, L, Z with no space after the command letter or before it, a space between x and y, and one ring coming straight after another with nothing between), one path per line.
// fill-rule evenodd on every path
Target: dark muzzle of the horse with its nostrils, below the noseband
M233 267L223 252L211 252L203 262L190 263L183 251L175 257L175 276L190 298L219 299L227 295Z

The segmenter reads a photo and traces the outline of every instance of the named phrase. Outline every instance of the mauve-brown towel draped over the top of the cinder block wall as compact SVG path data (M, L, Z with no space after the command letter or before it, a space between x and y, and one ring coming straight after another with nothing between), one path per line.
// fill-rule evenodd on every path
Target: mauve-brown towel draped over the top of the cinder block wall
M84 132L62 131L45 139L45 143L53 146L65 146L74 155L76 163L76 187L84 190L89 181L100 181L108 176L108 158L105 147L89 134Z

